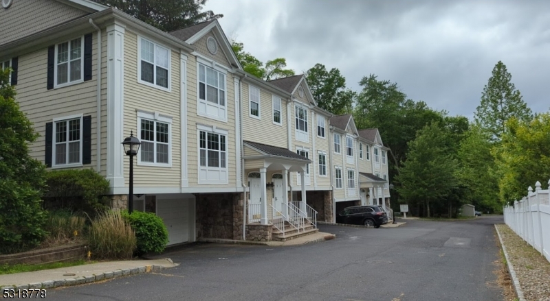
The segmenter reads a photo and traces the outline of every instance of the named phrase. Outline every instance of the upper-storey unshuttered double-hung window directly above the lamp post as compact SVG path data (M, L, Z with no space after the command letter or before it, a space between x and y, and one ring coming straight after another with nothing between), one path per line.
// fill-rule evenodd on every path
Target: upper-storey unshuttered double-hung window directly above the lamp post
M170 50L156 43L140 38L139 79L142 84L155 88L169 89Z

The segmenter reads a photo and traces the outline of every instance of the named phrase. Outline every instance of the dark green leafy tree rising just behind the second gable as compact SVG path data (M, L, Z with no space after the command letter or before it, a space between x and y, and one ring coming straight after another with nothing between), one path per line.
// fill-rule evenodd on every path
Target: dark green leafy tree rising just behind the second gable
M346 78L340 70L327 71L325 65L315 64L305 76L317 106L335 115L351 113L356 93L346 88Z

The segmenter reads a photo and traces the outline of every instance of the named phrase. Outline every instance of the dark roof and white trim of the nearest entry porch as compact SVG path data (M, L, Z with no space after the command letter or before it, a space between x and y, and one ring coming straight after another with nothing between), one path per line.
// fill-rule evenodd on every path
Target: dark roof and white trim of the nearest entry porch
M283 147L243 141L245 169L305 171L311 160Z

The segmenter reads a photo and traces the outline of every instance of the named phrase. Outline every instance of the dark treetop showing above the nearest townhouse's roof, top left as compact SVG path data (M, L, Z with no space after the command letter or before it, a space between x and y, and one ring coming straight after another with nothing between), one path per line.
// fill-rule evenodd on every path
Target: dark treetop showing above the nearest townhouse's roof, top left
M201 12L207 0L94 0L117 8L164 32L201 23L223 14Z

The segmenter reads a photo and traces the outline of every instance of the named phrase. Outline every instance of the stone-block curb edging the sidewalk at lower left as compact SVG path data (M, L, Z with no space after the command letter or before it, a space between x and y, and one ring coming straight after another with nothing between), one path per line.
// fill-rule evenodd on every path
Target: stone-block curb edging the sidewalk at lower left
M53 289L56 287L69 287L72 285L83 285L85 283L91 283L102 280L109 280L114 278L120 278L124 276L145 274L151 272L160 272L165 269L162 265L145 265L142 267L134 267L132 269L117 269L113 272L104 272L101 274L94 274L91 276L80 276L76 278L65 278L58 280L47 280L43 282L29 283L28 285L17 286L3 286L0 287L1 291L7 289Z

